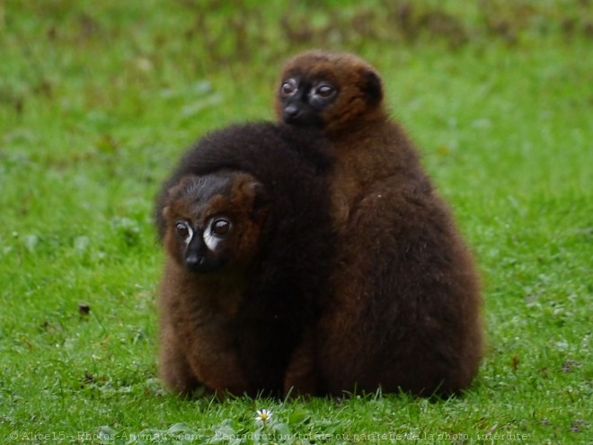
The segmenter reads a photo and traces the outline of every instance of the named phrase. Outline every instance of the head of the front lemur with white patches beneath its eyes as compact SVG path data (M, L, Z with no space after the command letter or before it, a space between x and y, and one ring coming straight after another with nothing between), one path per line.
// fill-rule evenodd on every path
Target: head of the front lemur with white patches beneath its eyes
M188 271L241 268L261 248L267 215L266 193L250 174L187 176L169 191L165 245Z

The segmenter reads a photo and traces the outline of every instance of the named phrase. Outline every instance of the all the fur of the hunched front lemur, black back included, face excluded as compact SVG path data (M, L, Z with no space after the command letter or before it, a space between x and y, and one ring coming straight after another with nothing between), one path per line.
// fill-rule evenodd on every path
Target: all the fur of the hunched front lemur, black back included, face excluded
M205 384L235 394L282 394L297 345L316 322L333 257L330 167L317 133L274 124L215 131L181 158L155 211L171 258L161 286L161 368L175 392ZM194 178L189 189L188 175ZM233 183L251 175L261 183L265 223L252 220L252 201L242 188L220 185L220 175L231 175ZM242 254L241 267L206 276L173 261L178 251L171 250L171 215L193 209L188 200L202 200L206 207L238 200L230 207L242 212L237 221L253 234L248 245L231 249Z

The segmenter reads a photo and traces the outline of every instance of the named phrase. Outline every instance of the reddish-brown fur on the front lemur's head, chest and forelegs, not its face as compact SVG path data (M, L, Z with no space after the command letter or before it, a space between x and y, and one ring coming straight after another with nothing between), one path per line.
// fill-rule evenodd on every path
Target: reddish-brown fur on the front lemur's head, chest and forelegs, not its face
M208 177L207 177L208 178ZM167 260L161 283L161 373L174 392L189 394L199 385L224 395L250 392L236 348L240 307L249 287L252 264L259 254L266 212L253 214L257 181L249 174L229 176L228 191L207 202L185 178L170 191L164 208L164 247ZM208 186L208 179L203 181ZM193 187L193 190L192 190ZM180 218L207 219L225 213L233 217L235 230L227 240L227 265L221 271L187 271L173 227Z

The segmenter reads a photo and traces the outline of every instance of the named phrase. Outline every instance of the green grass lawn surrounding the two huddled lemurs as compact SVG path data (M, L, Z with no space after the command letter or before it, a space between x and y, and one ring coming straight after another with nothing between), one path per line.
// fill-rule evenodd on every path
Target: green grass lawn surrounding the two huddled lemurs
M591 443L593 7L342 3L0 0L0 443ZM156 377L159 182L209 129L271 119L309 47L381 71L474 248L489 347L464 396L218 403Z

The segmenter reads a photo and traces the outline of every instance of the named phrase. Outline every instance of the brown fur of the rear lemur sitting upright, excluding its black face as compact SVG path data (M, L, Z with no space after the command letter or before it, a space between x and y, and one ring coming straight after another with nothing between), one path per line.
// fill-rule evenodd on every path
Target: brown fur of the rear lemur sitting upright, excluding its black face
M275 109L280 120L318 127L330 139L338 234L316 337L301 346L301 375L285 385L332 395L468 387L482 356L478 276L415 147L385 111L375 69L349 54L311 51L288 61L279 89L288 79L337 88L314 117L288 119L297 100L281 93Z

